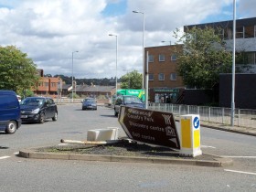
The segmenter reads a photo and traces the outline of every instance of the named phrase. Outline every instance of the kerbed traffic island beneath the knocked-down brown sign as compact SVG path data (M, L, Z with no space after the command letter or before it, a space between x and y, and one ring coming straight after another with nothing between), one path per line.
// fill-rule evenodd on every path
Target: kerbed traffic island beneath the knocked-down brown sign
M230 158L202 154L180 155L168 147L120 142L117 144L67 144L21 150L19 156L36 159L84 160L122 163L175 164L224 167L233 165Z

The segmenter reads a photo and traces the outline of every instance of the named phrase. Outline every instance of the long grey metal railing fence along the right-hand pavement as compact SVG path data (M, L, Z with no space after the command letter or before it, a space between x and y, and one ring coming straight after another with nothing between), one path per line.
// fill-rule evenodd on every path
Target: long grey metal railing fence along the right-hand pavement
M199 114L201 121L230 124L230 108L178 105L169 103L151 103L148 109L173 112L176 115ZM234 125L256 128L256 110L235 110Z

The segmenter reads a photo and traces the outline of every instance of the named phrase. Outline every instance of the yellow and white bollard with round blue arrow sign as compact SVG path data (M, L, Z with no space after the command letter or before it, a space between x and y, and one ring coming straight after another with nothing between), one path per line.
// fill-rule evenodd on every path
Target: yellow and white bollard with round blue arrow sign
M180 154L193 157L202 155L199 115L187 114L180 117Z

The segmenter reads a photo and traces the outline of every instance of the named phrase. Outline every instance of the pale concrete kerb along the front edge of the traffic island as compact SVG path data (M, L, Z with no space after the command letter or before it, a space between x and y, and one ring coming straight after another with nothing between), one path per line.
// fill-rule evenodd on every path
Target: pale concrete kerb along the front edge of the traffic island
M102 162L122 162L122 163L147 163L147 164L174 164L174 165L198 165L224 167L233 165L230 158L216 157L216 161L193 160L193 159L171 159L158 157L138 157L119 155L79 155L79 154L54 154L37 152L34 149L19 151L18 156L36 159L60 159L60 160L82 160L82 161L102 161Z

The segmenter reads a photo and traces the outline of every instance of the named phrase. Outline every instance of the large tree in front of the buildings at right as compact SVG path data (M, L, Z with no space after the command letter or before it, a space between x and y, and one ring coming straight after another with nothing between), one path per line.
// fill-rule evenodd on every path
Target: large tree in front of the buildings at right
M176 29L177 42L183 44L183 50L177 50L177 72L187 86L211 89L219 82L219 73L231 72L232 54L219 37L219 29L193 27L181 37L179 33Z

